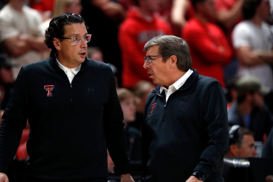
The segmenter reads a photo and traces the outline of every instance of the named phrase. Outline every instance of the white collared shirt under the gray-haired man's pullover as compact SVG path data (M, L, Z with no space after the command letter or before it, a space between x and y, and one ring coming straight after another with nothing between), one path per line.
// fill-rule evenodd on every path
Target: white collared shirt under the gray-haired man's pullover
M169 96L173 92L178 90L186 82L186 80L191 76L192 73L193 73L193 71L191 69L189 69L181 78L179 78L176 82L174 82L172 85L170 85L169 89L167 89L163 86L160 87L160 94L163 92L163 90L165 91L166 102L167 102Z

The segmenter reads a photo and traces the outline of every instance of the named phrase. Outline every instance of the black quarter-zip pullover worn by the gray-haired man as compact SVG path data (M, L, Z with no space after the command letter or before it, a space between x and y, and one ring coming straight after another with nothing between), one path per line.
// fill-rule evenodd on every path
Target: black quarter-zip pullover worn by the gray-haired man
M166 103L157 86L147 98L142 125L144 181L186 181L200 171L208 181L223 181L228 151L226 97L214 78L191 76Z

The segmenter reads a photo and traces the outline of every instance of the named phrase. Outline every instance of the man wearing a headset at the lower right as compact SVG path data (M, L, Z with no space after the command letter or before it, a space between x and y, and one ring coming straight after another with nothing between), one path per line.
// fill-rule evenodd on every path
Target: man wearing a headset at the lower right
M226 158L249 158L255 157L257 151L255 149L255 141L253 133L247 128L233 125L229 130L229 150L225 155ZM225 182L246 181L244 176L237 176L239 170L228 166L224 162L223 178Z

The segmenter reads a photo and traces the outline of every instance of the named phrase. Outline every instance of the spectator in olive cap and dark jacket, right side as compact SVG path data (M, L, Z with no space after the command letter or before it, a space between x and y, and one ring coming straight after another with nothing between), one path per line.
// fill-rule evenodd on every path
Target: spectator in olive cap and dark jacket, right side
M269 88L264 87L255 77L243 76L235 82L237 102L228 110L229 125L240 125L254 132L255 141L263 141L269 133L273 119L264 105L264 95Z

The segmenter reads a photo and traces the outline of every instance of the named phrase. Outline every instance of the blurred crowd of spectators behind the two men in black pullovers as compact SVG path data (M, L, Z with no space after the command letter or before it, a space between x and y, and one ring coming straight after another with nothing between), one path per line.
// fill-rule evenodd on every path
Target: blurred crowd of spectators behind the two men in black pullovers
M273 158L272 7L272 0L1 0L1 115L22 65L49 57L44 33L50 20L77 13L92 34L87 57L109 63L115 74L131 161L141 161L142 115L155 88L143 68L143 47L164 34L185 39L193 69L222 84L230 126L226 158ZM28 132L17 159L28 156ZM114 171L110 156L108 171ZM229 173L225 168L225 181L234 180Z

